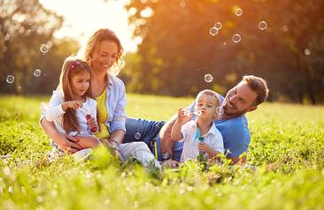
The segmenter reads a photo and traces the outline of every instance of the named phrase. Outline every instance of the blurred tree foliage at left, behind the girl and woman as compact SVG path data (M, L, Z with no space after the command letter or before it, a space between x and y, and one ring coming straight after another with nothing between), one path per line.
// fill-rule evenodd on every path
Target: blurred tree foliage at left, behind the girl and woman
M0 92L43 94L58 85L65 56L76 52L76 41L55 40L63 18L38 0L0 0ZM50 49L43 54L40 46ZM41 70L39 77L34 76ZM12 84L6 82L14 77Z

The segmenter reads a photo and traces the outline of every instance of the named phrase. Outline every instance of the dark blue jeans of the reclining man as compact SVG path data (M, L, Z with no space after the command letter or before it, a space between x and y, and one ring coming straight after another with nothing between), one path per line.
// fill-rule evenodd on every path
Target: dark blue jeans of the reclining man
M162 161L158 133L165 123L165 121L127 117L126 134L123 143L143 141L149 146L150 151L155 155L158 161ZM182 146L182 142L175 142L174 144L174 160L176 161L180 160Z

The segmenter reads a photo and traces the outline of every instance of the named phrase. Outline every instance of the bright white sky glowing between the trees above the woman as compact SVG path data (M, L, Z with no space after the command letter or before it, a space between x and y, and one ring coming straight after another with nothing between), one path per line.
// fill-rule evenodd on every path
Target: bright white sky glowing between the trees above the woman
M83 43L97 29L107 27L120 38L126 51L135 51L124 4L127 0L40 0L45 8L56 11L65 19L61 30L55 34L69 36Z

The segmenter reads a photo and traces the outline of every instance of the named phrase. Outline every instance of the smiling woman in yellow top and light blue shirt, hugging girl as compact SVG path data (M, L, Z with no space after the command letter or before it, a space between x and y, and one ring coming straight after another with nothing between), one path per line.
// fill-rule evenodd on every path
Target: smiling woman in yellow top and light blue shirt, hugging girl
M123 48L119 38L106 28L96 31L89 38L81 53L82 60L92 68L90 88L97 102L98 122L101 128L96 133L97 139L60 134L55 125L44 118L41 120L42 129L61 150L67 153L89 148L92 144L97 144L98 139L108 140L113 148L119 149L123 158L135 157L145 166L149 164L146 161L155 161L154 155L150 154L150 149L145 143L121 144L126 132L125 106L127 101L124 83L114 75L120 70L122 53ZM155 163L157 165L158 162L155 161Z

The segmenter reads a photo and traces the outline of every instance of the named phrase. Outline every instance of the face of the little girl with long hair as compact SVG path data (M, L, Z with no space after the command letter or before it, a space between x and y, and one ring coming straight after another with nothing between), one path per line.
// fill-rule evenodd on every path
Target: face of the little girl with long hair
M90 86L90 73L87 71L81 71L73 76L71 82L75 99L81 99Z

